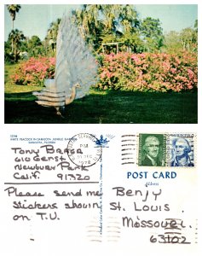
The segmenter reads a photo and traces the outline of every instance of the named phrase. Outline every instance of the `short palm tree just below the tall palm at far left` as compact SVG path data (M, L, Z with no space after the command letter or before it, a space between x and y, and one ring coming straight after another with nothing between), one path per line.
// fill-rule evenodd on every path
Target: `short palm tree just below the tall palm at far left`
M12 42L12 53L14 54L14 61L17 61L17 57L20 54L18 49L22 40L26 39L23 32L18 29L12 30L9 33L9 40Z

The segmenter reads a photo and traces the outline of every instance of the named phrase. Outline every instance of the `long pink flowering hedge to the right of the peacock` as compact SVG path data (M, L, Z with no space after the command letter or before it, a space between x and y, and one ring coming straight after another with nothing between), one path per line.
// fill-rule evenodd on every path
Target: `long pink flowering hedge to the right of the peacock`
M101 55L100 81L104 90L185 91L197 88L197 55L164 53Z

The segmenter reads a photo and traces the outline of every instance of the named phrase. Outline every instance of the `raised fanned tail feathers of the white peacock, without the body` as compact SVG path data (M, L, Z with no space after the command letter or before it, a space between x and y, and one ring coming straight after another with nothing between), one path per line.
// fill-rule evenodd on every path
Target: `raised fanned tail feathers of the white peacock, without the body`
M70 96L73 84L80 84L76 99L85 96L95 84L97 64L72 17L64 15L57 37L55 84Z

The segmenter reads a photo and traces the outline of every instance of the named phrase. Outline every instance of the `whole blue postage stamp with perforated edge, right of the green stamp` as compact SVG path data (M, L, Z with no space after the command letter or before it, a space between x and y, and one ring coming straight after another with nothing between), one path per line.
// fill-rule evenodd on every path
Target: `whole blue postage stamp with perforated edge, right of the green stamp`
M168 134L167 164L173 167L193 167L194 163L194 134Z

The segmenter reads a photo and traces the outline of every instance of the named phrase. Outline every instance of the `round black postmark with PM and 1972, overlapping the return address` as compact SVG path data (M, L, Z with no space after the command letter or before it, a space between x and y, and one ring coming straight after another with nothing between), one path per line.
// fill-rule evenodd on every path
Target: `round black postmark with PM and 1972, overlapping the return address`
M101 159L101 145L97 138L89 133L79 133L69 140L67 155L76 166L89 167Z

